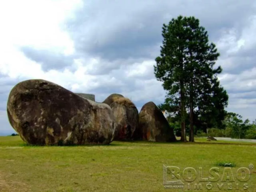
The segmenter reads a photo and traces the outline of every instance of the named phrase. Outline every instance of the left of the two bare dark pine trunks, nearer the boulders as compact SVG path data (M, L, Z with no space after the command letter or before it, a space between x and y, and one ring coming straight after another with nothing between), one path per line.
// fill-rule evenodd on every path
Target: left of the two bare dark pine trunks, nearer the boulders
M186 142L187 138L186 138L186 127L185 127L185 103L184 103L184 84L183 81L180 81L180 108L181 108L181 124L180 124L180 128L181 128L181 138L180 141Z

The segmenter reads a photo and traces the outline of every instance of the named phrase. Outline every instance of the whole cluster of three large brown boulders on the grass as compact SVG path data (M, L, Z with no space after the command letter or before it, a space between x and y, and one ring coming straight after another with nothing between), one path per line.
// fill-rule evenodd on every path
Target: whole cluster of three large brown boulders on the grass
M7 114L22 140L33 145L110 144L131 139L176 141L153 102L146 103L138 113L134 103L123 95L111 94L99 103L41 79L14 86Z

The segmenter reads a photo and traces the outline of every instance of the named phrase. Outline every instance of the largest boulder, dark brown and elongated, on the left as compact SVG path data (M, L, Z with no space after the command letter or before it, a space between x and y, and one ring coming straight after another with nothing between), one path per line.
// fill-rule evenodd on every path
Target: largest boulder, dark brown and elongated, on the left
M7 114L28 144L109 144L114 136L115 118L108 105L45 80L18 83L9 94Z

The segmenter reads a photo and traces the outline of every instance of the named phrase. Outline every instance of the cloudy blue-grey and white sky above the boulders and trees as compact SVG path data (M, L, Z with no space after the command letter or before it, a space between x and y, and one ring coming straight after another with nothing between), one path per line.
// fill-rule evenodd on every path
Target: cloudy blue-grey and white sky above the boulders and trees
M138 110L163 102L154 59L163 23L178 15L197 17L217 45L227 110L254 120L255 0L8 0L0 1L0 134L14 133L7 99L27 79L92 93L98 102L120 93Z

